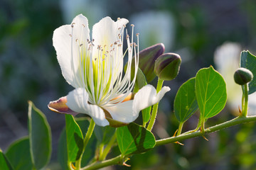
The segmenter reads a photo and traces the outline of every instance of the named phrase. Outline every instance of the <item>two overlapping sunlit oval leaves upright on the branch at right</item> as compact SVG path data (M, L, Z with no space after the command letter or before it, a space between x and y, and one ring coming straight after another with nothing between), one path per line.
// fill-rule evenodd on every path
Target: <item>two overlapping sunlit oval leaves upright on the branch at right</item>
M203 68L178 89L174 113L178 121L184 123L199 108L201 120L206 120L220 113L226 101L223 77L213 67Z

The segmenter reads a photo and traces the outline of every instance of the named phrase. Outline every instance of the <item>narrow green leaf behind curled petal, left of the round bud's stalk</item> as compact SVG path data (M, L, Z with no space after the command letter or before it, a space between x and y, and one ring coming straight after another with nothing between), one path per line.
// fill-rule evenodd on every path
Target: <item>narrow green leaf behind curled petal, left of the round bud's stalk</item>
M134 93L137 93L139 91L139 89L142 89L142 87L146 86L146 84L147 84L146 77L143 74L142 70L138 68L137 79L136 79L135 85L134 85ZM149 122L150 112L151 112L151 106L149 106L148 108L144 108L142 110L142 119L143 119L144 124Z

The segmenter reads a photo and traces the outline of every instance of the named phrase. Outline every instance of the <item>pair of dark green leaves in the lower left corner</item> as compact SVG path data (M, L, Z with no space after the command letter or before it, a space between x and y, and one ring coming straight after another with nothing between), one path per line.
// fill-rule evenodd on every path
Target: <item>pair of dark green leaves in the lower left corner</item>
M51 134L46 116L31 101L28 105L29 135L16 140L6 151L6 160L16 170L42 169L50 160ZM3 162L1 158L0 162ZM0 169L4 169L2 163Z

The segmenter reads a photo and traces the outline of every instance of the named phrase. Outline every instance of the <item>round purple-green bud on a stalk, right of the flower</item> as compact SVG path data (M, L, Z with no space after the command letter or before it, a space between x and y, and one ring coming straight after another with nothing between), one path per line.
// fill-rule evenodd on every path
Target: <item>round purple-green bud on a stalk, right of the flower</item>
M181 57L175 53L161 55L155 62L154 72L162 80L172 80L178 75Z

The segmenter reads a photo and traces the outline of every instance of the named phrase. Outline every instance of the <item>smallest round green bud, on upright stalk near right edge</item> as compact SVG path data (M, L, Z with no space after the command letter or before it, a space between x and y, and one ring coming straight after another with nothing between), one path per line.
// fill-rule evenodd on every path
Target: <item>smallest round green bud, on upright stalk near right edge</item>
M253 74L249 69L239 68L235 71L234 79L236 84L245 85L252 81Z

